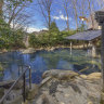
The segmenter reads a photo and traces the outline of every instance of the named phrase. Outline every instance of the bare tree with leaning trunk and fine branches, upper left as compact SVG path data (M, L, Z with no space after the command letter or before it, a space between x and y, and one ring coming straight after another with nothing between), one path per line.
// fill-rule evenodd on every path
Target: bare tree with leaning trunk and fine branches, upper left
M4 18L12 28L22 27L30 17L24 10L31 0L5 0Z

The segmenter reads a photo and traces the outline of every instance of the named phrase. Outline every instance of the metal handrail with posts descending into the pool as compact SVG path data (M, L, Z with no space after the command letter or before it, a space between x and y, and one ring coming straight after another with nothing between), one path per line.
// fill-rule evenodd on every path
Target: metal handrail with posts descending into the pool
M24 102L26 100L25 98L25 74L27 72L27 69L29 69L29 89L31 89L31 69L30 66L26 66L27 68L22 73L22 75L17 78L17 80L15 80L15 82L12 84L12 87L9 89L9 91L2 96L2 99L0 100L0 104L3 103L4 99L6 99L6 96L9 95L9 93L12 91L12 89L15 87L15 84L18 82L18 80L23 77L24 82L23 82L23 99Z

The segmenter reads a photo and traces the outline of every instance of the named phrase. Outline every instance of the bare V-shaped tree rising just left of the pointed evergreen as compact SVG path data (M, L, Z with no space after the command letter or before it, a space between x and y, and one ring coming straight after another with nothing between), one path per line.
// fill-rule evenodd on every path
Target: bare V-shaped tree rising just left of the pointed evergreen
M51 25L51 8L52 8L52 3L53 0L38 0L42 16L46 20L47 23L47 27L50 28Z

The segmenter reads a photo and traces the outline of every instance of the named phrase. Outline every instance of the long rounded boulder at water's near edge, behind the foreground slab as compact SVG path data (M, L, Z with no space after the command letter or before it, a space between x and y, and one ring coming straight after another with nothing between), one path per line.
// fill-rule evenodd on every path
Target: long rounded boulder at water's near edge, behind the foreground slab
M53 78L57 78L60 80L68 80L68 79L72 79L78 75L79 74L77 74L73 70L51 69L51 70L44 72L42 75L42 78L53 77Z

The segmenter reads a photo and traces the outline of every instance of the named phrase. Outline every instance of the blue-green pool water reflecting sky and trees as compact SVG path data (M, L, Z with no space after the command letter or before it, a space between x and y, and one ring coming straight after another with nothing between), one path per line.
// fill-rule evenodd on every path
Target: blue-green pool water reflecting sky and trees
M87 50L58 49L53 52L38 51L32 54L22 54L21 52L9 52L0 54L0 63L4 68L4 76L0 80L16 79L18 77L20 65L30 65L32 69L32 82L39 83L43 72L49 69L70 69L80 74L100 72L100 58L92 58L87 55Z

